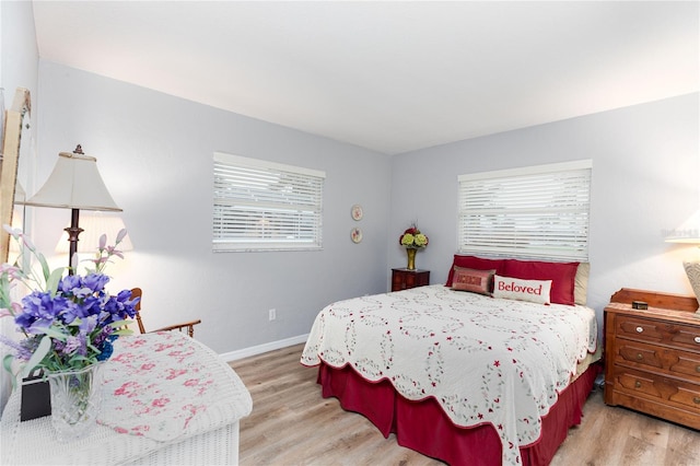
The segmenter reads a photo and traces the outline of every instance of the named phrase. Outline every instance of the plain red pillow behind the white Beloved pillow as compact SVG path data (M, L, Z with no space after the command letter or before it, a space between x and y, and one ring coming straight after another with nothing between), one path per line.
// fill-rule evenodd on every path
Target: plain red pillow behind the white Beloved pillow
M572 306L578 268L579 263L505 259L503 275L525 280L551 280L551 302Z

